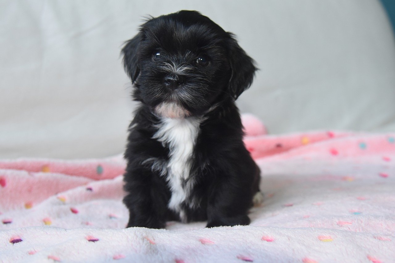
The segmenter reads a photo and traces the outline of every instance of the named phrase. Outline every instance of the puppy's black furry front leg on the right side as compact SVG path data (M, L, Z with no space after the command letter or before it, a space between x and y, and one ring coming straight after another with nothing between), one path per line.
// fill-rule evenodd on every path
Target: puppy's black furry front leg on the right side
M207 205L207 226L248 225L247 211L251 197L246 188L232 184L225 178L217 182L211 191Z

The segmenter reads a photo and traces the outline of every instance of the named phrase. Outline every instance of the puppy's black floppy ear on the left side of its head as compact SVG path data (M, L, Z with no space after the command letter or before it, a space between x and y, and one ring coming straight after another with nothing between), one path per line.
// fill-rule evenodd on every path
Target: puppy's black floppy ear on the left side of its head
M123 63L126 73L132 79L132 83L137 79L140 69L137 61L137 47L141 41L141 33L137 34L134 38L125 42L121 54L123 54Z

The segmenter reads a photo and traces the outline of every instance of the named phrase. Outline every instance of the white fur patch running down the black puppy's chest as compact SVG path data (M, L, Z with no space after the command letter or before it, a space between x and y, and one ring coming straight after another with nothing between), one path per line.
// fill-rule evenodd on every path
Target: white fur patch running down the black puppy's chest
M193 180L186 180L190 177L192 154L199 134L200 123L201 119L194 117L162 118L158 124L159 130L153 136L162 145L169 147L170 156L166 167L166 180L171 190L171 198L168 207L179 212L182 220L185 218L180 205L188 197L194 183Z

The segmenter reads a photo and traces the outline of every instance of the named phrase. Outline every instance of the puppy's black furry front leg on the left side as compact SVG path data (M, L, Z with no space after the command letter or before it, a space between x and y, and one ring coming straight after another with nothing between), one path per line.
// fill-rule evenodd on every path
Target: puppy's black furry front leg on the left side
M129 209L127 227L164 228L167 213L167 190L154 171L146 167L131 167L124 175L123 199Z

